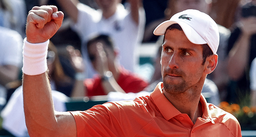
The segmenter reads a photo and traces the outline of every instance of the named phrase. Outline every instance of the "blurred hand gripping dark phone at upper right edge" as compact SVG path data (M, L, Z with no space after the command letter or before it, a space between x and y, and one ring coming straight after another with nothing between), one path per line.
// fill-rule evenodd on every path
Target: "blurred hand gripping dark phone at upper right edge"
M256 17L243 18L239 22L239 27L244 35L251 36L256 33Z

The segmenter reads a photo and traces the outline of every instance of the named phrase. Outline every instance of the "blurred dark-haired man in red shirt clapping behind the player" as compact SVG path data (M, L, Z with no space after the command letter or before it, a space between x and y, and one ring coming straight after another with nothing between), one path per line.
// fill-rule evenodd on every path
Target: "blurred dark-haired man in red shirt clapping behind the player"
M107 95L109 92L137 93L147 87L146 81L119 64L118 51L108 35L101 34L89 40L87 50L98 74L93 79L76 81L73 97ZM72 54L74 50L69 52L72 58L77 57Z

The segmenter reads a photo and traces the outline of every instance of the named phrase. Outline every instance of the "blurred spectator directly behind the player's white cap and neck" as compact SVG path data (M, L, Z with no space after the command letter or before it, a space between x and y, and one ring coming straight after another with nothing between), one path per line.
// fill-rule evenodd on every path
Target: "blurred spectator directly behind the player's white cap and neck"
M212 0L169 0L167 8L165 9L165 18L154 23L154 26L152 26L152 29L150 31L153 32L155 26L157 26L160 22L163 22L163 20L169 20L169 18L171 18L171 16L173 16L174 14L184 11L186 9L197 9L198 11L209 15L211 11L211 6ZM214 94L212 94L212 96L215 96L213 98L216 103L219 103L219 96L221 96L222 101L226 100L226 88L229 82L228 74L226 71L226 50L228 38L230 36L230 30L221 25L218 25L218 28L220 35L219 49L217 51L218 65L213 73L207 76L207 78L212 80L218 88L217 91L215 90L215 92L213 92ZM145 33L147 33L147 35L151 34L147 31L145 30ZM162 37L159 37L159 40L162 41ZM208 79L205 82L206 84L208 83L207 81L209 81ZM209 81L210 83L208 83L208 85L213 85L215 87L215 84L212 83L212 81Z

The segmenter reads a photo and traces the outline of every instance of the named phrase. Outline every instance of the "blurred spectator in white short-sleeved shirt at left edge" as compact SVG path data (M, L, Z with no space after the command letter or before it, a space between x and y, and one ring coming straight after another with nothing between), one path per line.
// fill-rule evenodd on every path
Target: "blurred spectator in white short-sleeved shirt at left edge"
M0 27L0 109L6 103L6 84L18 79L22 67L22 36Z

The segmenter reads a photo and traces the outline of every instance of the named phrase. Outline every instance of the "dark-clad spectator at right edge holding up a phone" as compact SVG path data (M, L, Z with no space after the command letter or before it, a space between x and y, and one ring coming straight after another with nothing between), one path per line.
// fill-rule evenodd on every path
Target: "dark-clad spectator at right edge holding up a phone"
M256 58L256 1L242 6L239 22L228 41L228 76L230 77L229 102L238 103L250 92L249 69Z

